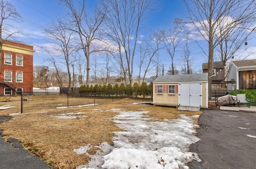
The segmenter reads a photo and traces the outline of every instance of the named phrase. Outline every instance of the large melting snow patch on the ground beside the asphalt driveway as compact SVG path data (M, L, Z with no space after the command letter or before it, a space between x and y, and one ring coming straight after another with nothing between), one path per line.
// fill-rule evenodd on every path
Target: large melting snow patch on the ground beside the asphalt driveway
M180 115L178 119L158 122L145 115L147 111L114 108L108 111L120 112L112 120L124 131L114 132L114 147L103 156L104 161L90 161L77 169L82 166L94 169L188 169L186 163L193 159L201 161L196 153L189 152L189 146L200 140L193 135L197 125L192 120L199 116ZM86 152L88 147L85 146L84 151L83 148L76 151ZM101 156L98 155L98 158Z

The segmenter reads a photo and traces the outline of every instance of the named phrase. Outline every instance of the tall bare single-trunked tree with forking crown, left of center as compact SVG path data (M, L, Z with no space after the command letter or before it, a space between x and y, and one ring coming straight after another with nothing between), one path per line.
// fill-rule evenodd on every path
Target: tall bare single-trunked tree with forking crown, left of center
M76 32L80 39L80 46L86 57L86 85L90 78L90 54L95 51L100 51L99 47L93 43L95 40L100 40L96 37L97 31L106 15L104 8L95 8L93 18L89 18L85 11L85 0L82 1L80 7L76 7L73 0L60 0L61 4L66 6L70 12L70 23L72 31Z

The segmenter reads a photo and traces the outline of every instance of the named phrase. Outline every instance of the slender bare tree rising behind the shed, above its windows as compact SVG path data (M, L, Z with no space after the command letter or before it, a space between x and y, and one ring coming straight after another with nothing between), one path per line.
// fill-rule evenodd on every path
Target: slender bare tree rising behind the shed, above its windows
M174 22L174 28L169 29L165 33L165 38L164 38L164 44L165 44L165 49L169 56L171 57L171 71L170 73L172 75L175 75L174 73L174 56L177 50L178 45L182 42L183 40L183 34L182 31L184 29L184 24L175 21Z

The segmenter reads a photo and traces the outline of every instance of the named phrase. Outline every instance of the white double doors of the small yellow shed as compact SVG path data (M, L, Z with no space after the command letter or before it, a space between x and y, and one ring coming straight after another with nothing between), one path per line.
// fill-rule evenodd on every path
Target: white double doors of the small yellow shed
M202 83L179 83L179 105L202 106Z

